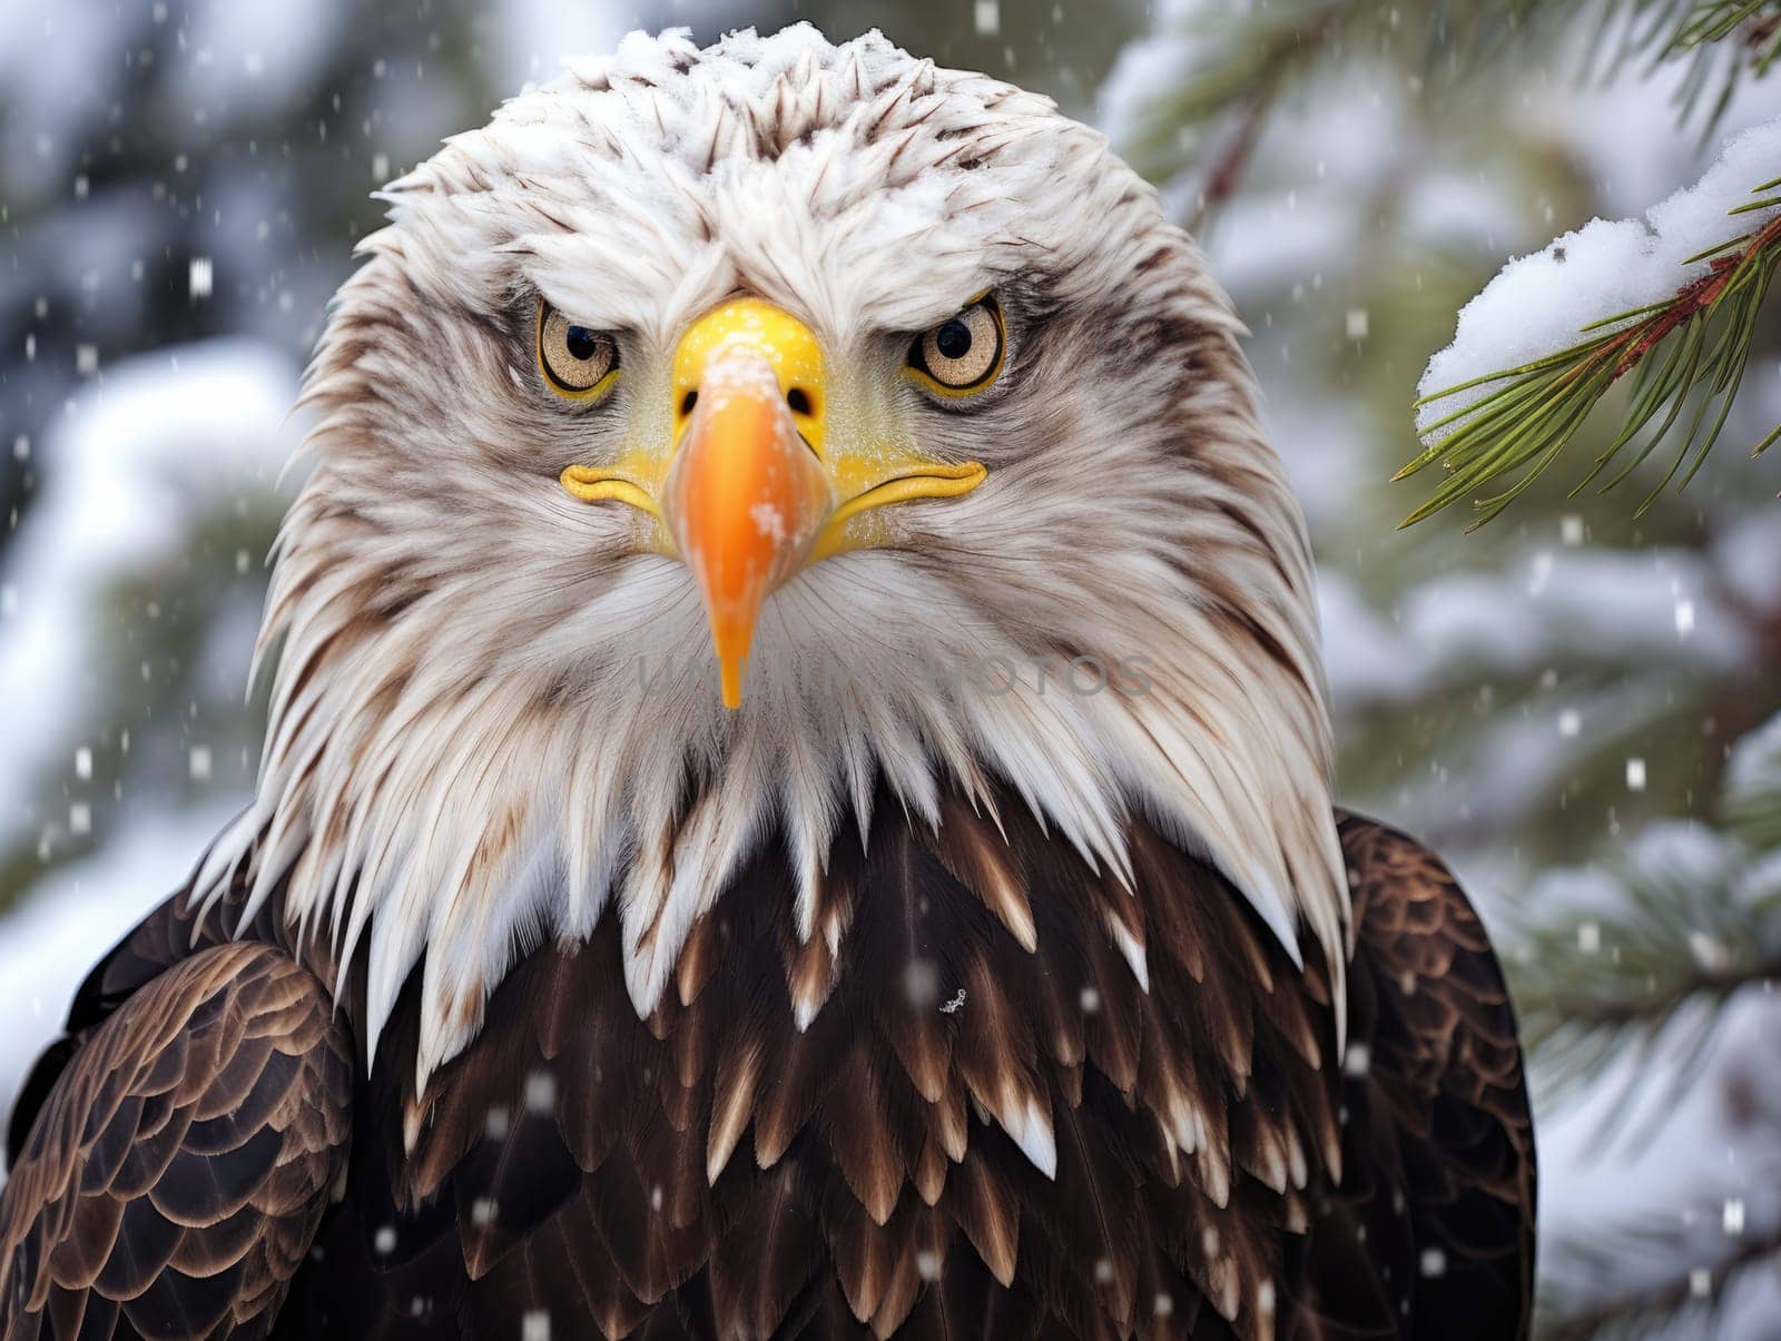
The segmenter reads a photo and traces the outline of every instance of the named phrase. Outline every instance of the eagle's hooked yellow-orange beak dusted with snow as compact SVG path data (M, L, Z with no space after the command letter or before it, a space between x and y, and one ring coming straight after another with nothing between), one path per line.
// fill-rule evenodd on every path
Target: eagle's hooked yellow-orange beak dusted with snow
M760 299L737 299L687 328L673 362L675 451L573 465L563 488L657 516L705 598L727 707L741 707L768 595L817 559L869 543L871 509L951 499L983 483L976 461L940 463L867 443L826 442L828 381L816 335ZM655 481L661 481L655 488Z

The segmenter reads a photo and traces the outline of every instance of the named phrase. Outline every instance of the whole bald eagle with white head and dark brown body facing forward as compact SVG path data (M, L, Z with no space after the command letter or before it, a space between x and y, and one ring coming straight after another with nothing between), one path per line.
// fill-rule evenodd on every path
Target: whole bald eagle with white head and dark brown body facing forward
M5 1341L1526 1334L1501 974L1332 809L1240 326L1101 135L634 34L386 199Z

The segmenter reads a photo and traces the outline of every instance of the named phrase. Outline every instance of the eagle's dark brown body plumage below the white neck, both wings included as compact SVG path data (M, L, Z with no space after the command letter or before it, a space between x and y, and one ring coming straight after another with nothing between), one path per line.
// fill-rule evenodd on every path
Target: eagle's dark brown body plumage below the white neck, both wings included
M880 800L869 841L830 858L834 947L800 940L764 844L648 1019L607 912L524 956L422 1095L419 969L349 1097L363 967L315 965L331 1017L276 901L244 931L271 946L214 947L217 919L194 937L173 899L94 971L27 1088L0 1336L71 1337L82 1309L78 1336L178 1316L557 1341L1526 1332L1514 1017L1425 849L1343 821L1341 1065L1325 971L1295 969L1202 860L1138 832L1127 890L1013 798L1004 830L951 805L939 835ZM162 1095L228 1138L169 1136ZM175 1179L203 1193L169 1211ZM150 1206L183 1225L166 1252L134 1232Z

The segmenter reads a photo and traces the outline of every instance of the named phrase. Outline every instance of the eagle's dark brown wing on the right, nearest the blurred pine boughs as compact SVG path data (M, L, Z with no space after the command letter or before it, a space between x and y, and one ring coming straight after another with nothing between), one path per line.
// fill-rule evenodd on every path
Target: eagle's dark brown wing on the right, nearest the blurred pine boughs
M1418 1336L1525 1337L1533 1122L1501 965L1435 853L1361 816L1338 832L1355 928L1345 1179L1309 1270L1327 1296L1371 1288Z

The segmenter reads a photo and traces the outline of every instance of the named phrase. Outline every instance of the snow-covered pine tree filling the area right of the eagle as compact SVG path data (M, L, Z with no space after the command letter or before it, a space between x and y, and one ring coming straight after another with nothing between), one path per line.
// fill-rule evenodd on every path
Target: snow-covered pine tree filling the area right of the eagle
M1551 1336L1781 1314L1777 52L1767 0L1177 0L1106 96L1256 328L1345 791L1516 947Z

